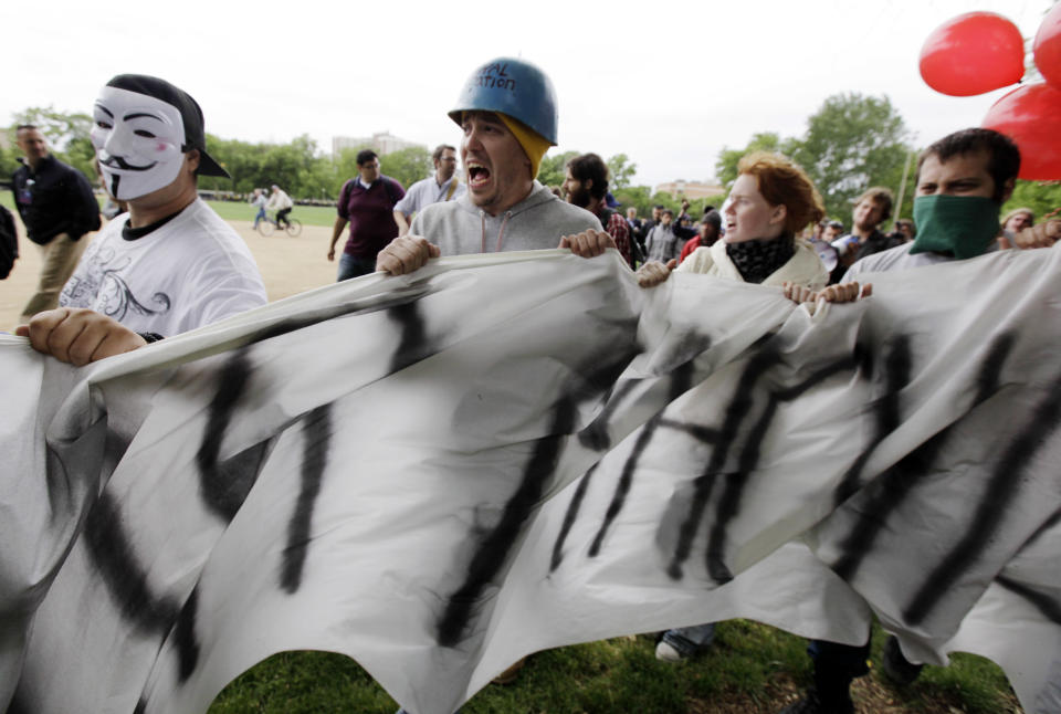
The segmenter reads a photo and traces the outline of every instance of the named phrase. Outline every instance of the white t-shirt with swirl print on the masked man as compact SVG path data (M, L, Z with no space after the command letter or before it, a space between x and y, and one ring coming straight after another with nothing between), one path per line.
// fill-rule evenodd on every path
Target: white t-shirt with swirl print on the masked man
M88 245L60 305L169 337L267 302L246 243L202 200L136 240L122 237L127 221L111 221Z

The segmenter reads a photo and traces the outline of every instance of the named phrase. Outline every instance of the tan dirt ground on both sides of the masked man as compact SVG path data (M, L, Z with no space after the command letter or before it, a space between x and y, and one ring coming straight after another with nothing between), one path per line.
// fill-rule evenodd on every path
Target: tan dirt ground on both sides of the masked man
M229 221L229 224L246 241L258 261L270 302L335 282L338 265L326 259L330 228L304 225L298 238L288 238L285 233L262 238L251 230L250 221ZM0 330L3 332L14 329L41 270L39 249L27 240L21 223L19 250L22 255L11 275L0 281Z

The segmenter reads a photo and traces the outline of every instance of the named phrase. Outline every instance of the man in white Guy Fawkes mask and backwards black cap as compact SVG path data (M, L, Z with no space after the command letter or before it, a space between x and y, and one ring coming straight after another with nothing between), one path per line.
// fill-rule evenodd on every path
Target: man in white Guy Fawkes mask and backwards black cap
M17 334L86 364L264 305L246 244L198 197L198 175L229 175L206 153L196 101L164 80L123 74L101 90L93 120L104 183L129 211L85 251L59 309Z

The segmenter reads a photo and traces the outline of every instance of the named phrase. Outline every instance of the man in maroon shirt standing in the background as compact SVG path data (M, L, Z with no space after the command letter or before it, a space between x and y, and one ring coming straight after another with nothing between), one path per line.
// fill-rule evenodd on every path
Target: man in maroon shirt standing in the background
M401 185L379 172L376 151L365 149L357 155L357 176L343 185L339 191L338 217L332 229L328 260L335 260L335 244L346 224L350 237L339 259L336 282L376 271L376 255L398 237L395 203L406 195Z

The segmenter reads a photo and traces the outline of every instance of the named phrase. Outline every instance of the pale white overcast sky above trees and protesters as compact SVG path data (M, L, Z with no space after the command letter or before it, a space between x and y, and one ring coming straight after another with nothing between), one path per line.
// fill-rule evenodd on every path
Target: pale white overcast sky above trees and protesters
M800 135L839 92L887 95L918 146L978 125L1006 91L932 91L917 72L925 38L971 10L1034 36L1051 4L52 0L3 13L0 119L29 106L91 113L99 86L134 72L188 91L207 130L223 138L308 134L330 150L335 135L389 130L458 144L445 113L465 78L493 57L522 56L556 86L554 151L626 153L637 183L705 180L723 146L742 147L755 132Z

